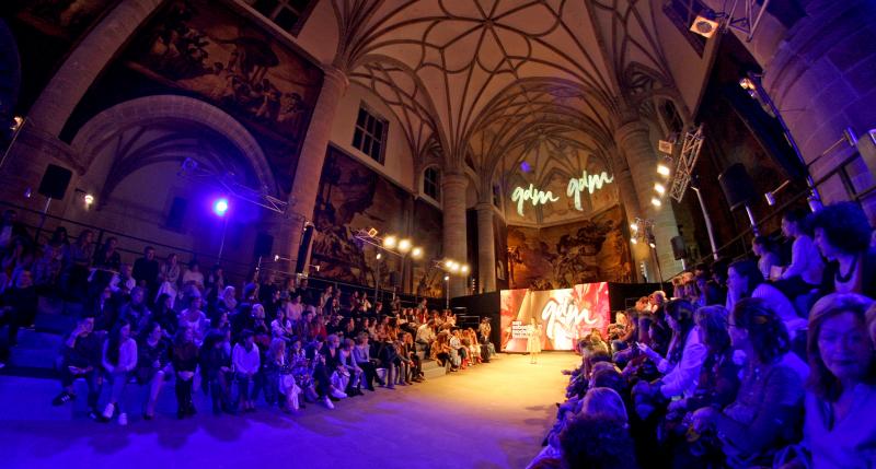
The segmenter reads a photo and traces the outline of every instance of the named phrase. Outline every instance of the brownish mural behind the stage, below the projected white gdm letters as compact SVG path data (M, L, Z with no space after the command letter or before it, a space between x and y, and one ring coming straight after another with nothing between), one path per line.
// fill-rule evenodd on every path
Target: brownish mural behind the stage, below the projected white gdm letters
M620 206L590 220L534 228L508 226L511 289L552 290L578 283L629 282L630 249Z

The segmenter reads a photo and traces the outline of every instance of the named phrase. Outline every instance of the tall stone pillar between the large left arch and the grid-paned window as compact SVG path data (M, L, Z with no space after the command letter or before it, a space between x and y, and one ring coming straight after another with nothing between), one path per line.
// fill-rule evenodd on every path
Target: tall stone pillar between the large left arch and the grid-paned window
M320 97L316 98L304 142L301 144L292 192L289 195L290 230L285 238L288 239L286 246L293 266L298 259L303 221L313 220L313 208L316 204L316 192L320 190L320 176L332 134L335 110L349 85L346 74L338 68L326 65L323 66L323 71L325 74L322 90Z

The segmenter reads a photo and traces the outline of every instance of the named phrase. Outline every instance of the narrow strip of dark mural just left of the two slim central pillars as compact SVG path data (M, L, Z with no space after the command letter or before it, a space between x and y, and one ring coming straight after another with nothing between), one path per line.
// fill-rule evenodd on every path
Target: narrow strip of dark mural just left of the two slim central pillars
M443 271L431 268L431 259L441 256L443 218L429 202L414 202L414 238L423 246L423 260L413 263L414 293L438 298L443 296Z

